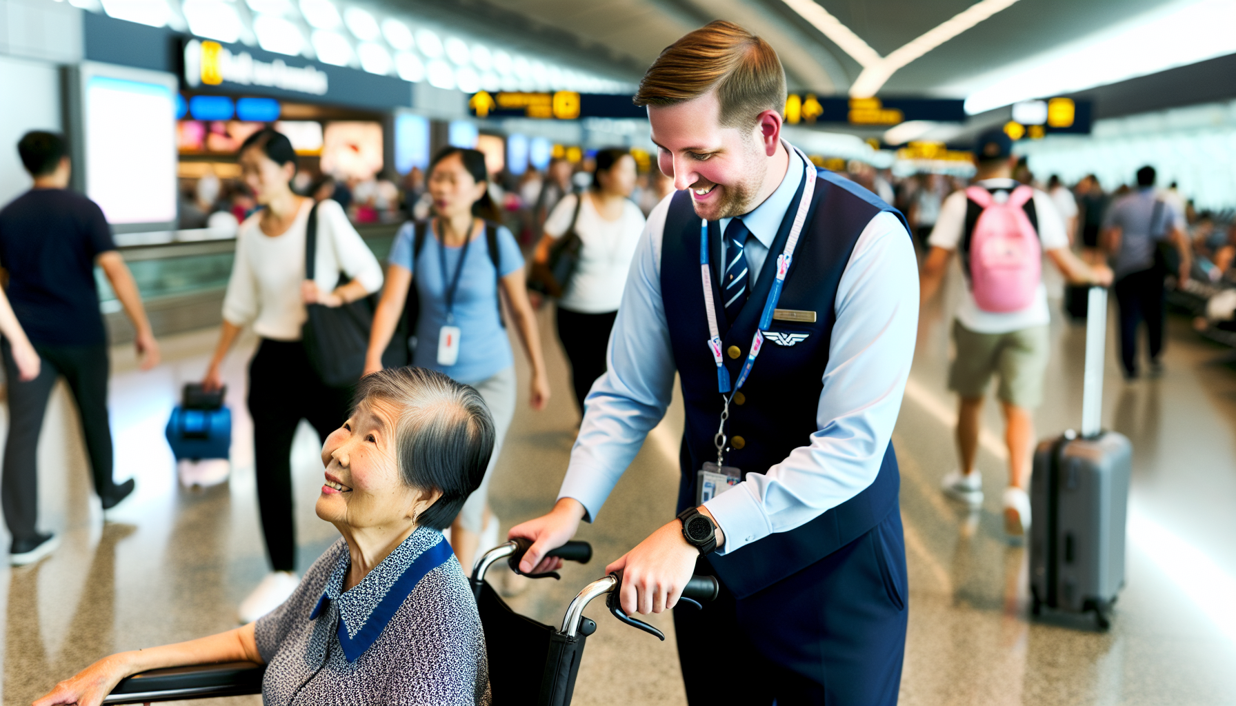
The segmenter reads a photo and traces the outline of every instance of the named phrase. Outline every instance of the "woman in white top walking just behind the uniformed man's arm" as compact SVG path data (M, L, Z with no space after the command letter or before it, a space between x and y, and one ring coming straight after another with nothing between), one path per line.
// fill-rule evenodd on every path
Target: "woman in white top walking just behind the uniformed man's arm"
M627 150L599 150L592 188L559 202L545 221L545 237L536 246L538 262L549 261L554 242L575 231L580 262L557 302L557 336L571 361L575 401L583 398L606 372L606 346L618 315L627 270L644 232L644 214L630 200L635 187L635 158Z

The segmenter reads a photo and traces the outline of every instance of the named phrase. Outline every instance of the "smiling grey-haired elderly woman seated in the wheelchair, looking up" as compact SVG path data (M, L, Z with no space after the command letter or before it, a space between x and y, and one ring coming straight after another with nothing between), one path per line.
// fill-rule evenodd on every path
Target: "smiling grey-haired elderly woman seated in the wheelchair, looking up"
M266 664L266 704L489 704L476 602L441 528L477 488L494 428L471 387L425 368L361 380L323 445L318 517L342 538L255 623L106 657L35 706L98 706L151 669Z

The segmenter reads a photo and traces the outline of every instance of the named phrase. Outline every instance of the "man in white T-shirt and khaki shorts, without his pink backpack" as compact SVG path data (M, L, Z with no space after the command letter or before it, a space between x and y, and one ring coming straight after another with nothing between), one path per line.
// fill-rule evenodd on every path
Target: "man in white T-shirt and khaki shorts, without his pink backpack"
M999 130L979 137L975 152L979 159L978 181L1002 204L1020 184L1012 177L1017 158L1012 142ZM1069 250L1064 221L1046 193L1035 189L1023 206L1038 235L1039 246L1048 260L1074 284L1111 283L1111 270L1104 265L1089 266ZM969 255L970 236L981 208L965 192L954 192L941 208L939 219L927 242L931 251L920 274L921 303L939 288L948 261L959 249ZM1037 251L1035 252L1037 257ZM968 262L969 260L963 260ZM1000 378L996 396L1005 418L1005 440L1009 444L1009 487L1004 492L1005 530L1012 538L1022 537L1030 528L1031 455L1035 445L1033 410L1043 396L1043 372L1047 370L1051 315L1047 289L1042 281L1030 298L1030 305L1005 312L980 308L971 292L968 272L967 288L953 321L957 357L948 376L949 388L960 397L957 414L957 448L960 469L944 476L943 488L949 497L971 507L983 504L983 477L974 467L979 448L979 413L991 376Z

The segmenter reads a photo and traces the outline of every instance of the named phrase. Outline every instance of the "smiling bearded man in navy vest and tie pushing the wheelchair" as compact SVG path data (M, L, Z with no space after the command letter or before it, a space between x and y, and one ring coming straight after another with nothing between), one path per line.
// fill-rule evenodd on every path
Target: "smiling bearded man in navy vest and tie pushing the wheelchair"
M607 570L628 613L675 611L692 705L894 704L906 564L890 444L918 278L902 216L781 140L772 48L712 22L640 82L662 172L554 509L520 570L597 516L681 376L677 519ZM719 429L719 432L718 432Z

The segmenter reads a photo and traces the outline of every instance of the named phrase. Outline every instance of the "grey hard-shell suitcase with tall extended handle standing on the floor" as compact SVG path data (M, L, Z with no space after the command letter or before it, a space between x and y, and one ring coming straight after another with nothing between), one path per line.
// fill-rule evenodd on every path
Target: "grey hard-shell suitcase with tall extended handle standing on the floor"
M1035 450L1030 483L1030 589L1043 607L1093 611L1101 629L1125 584L1125 518L1132 446L1099 428L1107 292L1089 293L1082 433L1065 432Z

